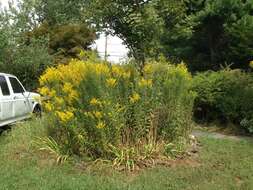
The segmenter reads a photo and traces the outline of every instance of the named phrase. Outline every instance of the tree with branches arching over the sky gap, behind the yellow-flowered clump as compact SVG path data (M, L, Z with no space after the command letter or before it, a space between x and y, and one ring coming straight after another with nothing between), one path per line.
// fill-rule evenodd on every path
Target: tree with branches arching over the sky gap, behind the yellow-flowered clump
M120 37L139 62L142 70L147 57L156 57L160 49L163 21L148 0L90 0L90 22Z

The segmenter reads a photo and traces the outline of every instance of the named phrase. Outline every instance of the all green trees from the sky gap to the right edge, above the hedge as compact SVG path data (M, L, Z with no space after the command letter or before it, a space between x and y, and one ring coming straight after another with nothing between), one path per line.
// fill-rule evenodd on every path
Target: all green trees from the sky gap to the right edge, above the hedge
M141 69L146 58L160 54L186 61L192 71L226 64L248 69L252 59L250 0L90 0L87 5L87 20L122 38Z

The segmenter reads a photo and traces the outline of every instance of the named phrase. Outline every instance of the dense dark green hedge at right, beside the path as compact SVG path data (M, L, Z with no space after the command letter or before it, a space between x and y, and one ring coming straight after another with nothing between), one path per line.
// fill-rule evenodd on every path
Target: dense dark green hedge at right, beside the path
M194 77L195 117L253 126L253 76L240 70L200 73Z

